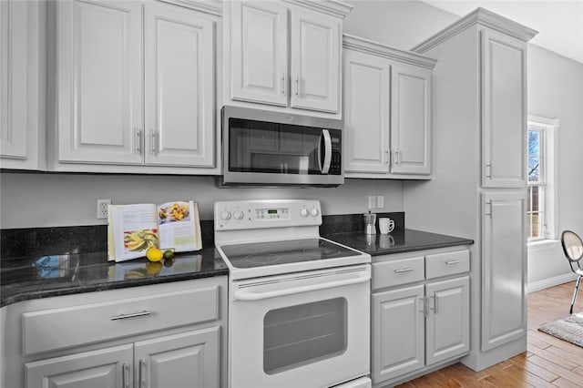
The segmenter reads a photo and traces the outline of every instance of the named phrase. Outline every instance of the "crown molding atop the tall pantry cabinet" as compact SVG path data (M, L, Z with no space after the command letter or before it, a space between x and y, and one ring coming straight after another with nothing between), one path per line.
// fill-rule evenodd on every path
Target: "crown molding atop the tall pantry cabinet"
M523 26L514 20L510 20L502 15L495 14L488 11L486 8L476 8L476 10L465 15L454 24L445 27L441 32L435 36L426 39L424 42L412 48L412 51L417 53L424 53L425 51L441 44L452 36L459 34L470 26L486 26L508 36L516 37L524 42L529 41L536 36L538 32L527 26Z

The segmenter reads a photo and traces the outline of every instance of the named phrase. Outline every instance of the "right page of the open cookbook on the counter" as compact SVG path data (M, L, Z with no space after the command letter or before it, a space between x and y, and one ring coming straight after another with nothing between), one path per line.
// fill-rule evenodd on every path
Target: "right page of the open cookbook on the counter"
M160 249L177 252L202 249L199 204L175 200L159 205Z

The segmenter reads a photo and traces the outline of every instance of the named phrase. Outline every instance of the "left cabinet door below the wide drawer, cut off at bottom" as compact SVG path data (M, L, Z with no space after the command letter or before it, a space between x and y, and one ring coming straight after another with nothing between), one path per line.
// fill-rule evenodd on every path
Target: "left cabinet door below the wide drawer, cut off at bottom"
M132 349L128 344L28 362L26 388L126 388L131 386Z

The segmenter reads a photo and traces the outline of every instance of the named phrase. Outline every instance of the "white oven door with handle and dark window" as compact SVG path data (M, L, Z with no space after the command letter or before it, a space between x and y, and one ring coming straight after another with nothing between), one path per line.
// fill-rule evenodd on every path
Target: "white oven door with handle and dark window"
M370 265L230 287L230 388L328 387L369 374Z

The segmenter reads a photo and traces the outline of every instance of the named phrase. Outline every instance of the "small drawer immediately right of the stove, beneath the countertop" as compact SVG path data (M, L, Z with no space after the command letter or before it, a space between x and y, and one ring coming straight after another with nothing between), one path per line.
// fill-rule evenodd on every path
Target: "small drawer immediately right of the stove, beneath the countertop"
M373 263L373 290L423 280L423 256Z

